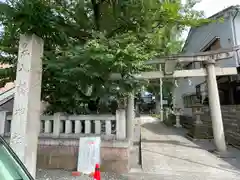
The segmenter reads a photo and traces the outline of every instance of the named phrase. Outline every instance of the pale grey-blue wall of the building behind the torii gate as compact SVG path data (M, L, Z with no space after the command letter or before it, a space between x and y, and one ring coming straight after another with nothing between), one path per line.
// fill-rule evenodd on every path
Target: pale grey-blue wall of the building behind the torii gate
M188 37L188 43L185 46L185 53L196 53L200 52L204 47L208 45L215 37L220 38L220 44L222 48L231 48L234 45L233 36L232 36L232 19L228 17L224 22L211 23L202 27L198 27L192 30L190 36ZM238 24L237 28L237 38L240 42L240 15L236 18ZM222 60L217 63L220 67L236 67L237 63L234 58ZM195 68L199 68L195 67ZM194 77L189 78L191 85L189 84L188 79L179 79L178 87L174 90L175 103L176 107L180 107L183 110L185 116L192 116L191 108L184 108L183 104L183 95L186 94L195 94L196 85L205 81L205 77Z

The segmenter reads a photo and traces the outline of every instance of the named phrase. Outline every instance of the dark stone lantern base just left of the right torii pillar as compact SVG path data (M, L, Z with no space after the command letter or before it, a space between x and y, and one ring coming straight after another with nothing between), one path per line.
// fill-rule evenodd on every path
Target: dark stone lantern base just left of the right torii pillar
M187 136L192 139L212 139L213 133L211 126L206 124L193 124L189 129Z

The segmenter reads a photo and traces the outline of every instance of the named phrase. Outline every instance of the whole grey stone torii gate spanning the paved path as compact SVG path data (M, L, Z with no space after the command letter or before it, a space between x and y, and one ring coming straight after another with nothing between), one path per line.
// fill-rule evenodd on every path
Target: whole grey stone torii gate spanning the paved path
M211 52L200 52L191 55L176 55L169 56L165 58L156 58L150 61L147 61L147 65L154 64L165 64L165 70L162 71L151 71L151 72L142 72L140 74L134 75L137 79L162 79L162 78L183 78L183 77L207 77L208 85L208 96L209 96L209 106L210 114L213 124L213 134L214 141L219 153L225 153L226 143L222 122L222 113L219 101L218 85L216 76L226 76L226 75L235 75L237 74L236 67L230 68L220 68L215 67L216 61L229 59L232 57L238 57L240 47L233 47L231 49L222 49L218 51ZM205 65L205 68L192 69L192 70L175 70L176 65L179 63L191 63L191 62L202 62ZM121 78L119 74L112 74L112 79ZM130 104L128 104L130 105ZM128 109L132 107L128 107ZM133 118L127 117L127 132L132 131L132 121ZM132 134L132 133L131 133ZM131 135L130 134L130 135ZM131 139L131 137L129 137Z

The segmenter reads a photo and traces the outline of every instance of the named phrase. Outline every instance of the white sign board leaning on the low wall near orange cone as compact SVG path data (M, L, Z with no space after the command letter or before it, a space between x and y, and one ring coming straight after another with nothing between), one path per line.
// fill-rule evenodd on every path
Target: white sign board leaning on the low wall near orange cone
M95 165L100 164L100 137L81 137L79 139L77 171L90 174L95 171Z

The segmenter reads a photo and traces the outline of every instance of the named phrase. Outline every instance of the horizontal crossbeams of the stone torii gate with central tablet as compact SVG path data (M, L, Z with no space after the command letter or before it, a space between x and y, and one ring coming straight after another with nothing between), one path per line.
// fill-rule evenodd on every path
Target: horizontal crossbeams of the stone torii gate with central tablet
M240 46L236 46L231 49L223 49L220 51L211 51L211 52L201 52L192 55L184 56L169 56L154 60L149 60L146 65L154 64L165 64L165 72L159 71L149 71L141 72L139 74L134 74L133 77L136 79L159 79L159 78L181 78L181 77L200 77L207 76L206 68L192 69L192 70L175 70L177 63L191 63L191 62L207 62L211 59L216 61L232 58L238 53ZM215 72L217 76L227 76L237 74L235 67L220 68L216 67ZM111 80L121 79L119 73L113 73L110 77Z

